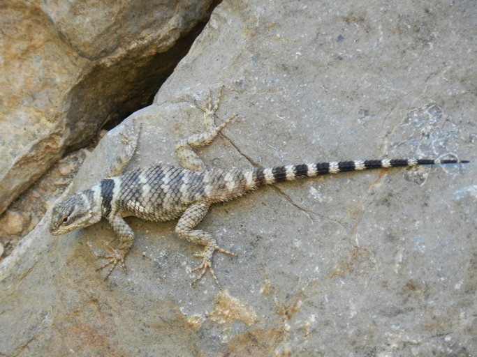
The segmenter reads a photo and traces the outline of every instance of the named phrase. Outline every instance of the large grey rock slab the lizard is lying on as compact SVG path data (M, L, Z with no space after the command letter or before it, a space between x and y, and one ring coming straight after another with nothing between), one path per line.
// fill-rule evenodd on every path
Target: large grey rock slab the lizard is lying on
M133 114L129 168L177 163L208 89L239 116L212 167L454 153L466 166L394 169L264 188L200 224L215 256L128 218L128 272L95 271L105 222L53 237L48 215L1 264L7 356L472 356L477 350L473 1L223 1L190 53ZM474 37L472 37L474 36ZM104 175L112 130L71 191ZM113 242L114 244L115 242Z

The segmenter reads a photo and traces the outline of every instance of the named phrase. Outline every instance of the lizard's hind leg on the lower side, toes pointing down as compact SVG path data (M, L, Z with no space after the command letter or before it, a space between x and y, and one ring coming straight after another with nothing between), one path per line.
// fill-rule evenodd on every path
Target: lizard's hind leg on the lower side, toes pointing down
M215 282L217 282L217 285L220 287L219 280L217 279L217 276L214 273L214 269L212 268L212 255L214 255L214 252L216 250L218 252L233 255L235 257L237 257L237 255L220 248L215 238L206 231L193 229L205 217L207 211L209 210L209 206L210 204L207 204L206 202L198 202L187 208L186 211L182 213L181 218L179 218L179 222L177 222L177 226L175 227L175 233L177 234L177 236L184 238L187 241L191 241L192 243L200 245L205 245L205 248L202 253L194 255L194 257L203 258L203 260L202 264L200 264L197 268L192 269L192 271L201 271L198 278L196 278L196 280L194 280L192 284L198 282L205 275L207 269L209 269Z

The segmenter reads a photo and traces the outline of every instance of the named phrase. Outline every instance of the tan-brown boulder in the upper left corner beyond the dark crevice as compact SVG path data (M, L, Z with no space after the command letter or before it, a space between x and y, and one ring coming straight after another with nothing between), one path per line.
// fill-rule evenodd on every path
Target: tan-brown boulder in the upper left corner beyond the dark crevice
M0 3L0 213L156 93L213 0Z

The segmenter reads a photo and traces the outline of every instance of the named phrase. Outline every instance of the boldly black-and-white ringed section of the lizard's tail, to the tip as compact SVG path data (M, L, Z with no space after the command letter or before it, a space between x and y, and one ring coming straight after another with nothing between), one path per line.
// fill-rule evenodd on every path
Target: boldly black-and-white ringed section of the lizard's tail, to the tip
M293 181L301 177L337 174L339 172L386 169L388 167L411 167L418 165L466 164L468 160L392 159L319 162L254 169L254 185L272 185L282 181Z

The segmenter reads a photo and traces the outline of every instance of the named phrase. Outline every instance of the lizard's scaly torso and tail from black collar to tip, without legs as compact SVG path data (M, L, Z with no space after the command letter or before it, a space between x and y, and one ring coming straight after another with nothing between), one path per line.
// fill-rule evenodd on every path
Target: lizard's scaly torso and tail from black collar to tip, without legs
M214 204L228 201L261 185L339 172L457 162L464 161L358 160L265 169L210 169L204 172L161 164L101 181L102 209L105 217L112 213L122 217L134 215L145 220L167 221L178 218L196 202Z

